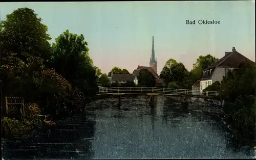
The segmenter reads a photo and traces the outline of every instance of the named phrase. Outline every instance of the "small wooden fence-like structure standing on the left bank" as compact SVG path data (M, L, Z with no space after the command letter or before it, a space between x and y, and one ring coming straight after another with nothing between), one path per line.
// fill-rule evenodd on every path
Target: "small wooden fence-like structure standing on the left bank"
M20 113L25 117L25 106L23 97L5 97L6 113L8 114L8 106L14 105L20 107Z

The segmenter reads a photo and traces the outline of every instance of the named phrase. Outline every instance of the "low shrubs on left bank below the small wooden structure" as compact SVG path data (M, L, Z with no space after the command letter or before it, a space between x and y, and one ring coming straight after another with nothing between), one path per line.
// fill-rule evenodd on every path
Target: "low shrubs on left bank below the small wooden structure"
M10 114L12 113L10 112ZM35 103L25 104L25 117L20 116L22 117L20 119L11 117L8 112L8 117L2 119L3 137L13 138L28 134L32 129L39 126L39 113L39 106Z

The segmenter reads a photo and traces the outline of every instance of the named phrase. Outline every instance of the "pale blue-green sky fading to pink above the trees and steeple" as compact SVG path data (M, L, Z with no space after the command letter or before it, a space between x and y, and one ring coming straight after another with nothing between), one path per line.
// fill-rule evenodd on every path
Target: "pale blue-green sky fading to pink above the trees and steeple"
M83 34L94 64L107 73L118 66L133 72L149 66L154 35L160 73L173 58L188 70L200 55L217 58L236 47L255 62L252 1L1 3L1 20L18 8L35 10L55 41L63 31ZM186 25L186 20L220 20ZM51 41L51 42L52 42Z

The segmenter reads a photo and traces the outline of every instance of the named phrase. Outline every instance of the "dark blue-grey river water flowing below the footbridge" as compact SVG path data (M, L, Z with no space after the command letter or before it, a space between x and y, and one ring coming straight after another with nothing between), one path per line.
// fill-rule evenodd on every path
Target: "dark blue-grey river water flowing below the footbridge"
M91 158L253 158L233 149L222 110L189 104L182 108L164 96L148 105L147 96L92 102L86 113L65 120L47 134L41 127L27 138L3 143L5 159ZM99 106L102 108L98 109Z

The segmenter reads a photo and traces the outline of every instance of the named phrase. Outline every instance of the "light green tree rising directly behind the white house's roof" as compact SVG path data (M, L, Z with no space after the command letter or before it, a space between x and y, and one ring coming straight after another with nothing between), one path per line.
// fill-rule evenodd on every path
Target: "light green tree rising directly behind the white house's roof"
M199 56L197 62L193 64L193 69L191 70L194 75L193 81L196 82L202 76L203 70L217 61L217 58L209 54L206 56Z

